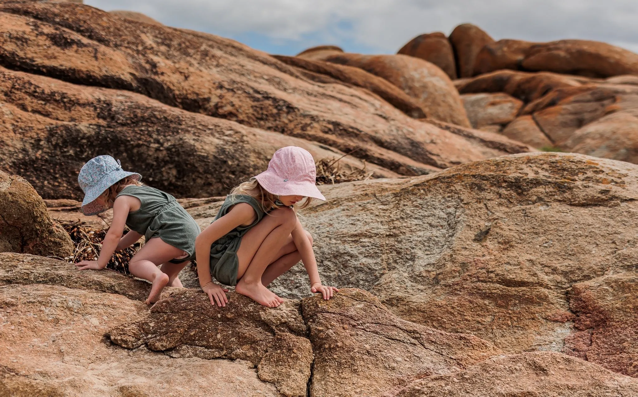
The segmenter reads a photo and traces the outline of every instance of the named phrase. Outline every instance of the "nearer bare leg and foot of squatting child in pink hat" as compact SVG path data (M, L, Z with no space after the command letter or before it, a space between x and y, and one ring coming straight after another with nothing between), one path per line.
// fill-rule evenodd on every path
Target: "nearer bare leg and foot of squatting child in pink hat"
M262 275L266 267L276 259L279 250L288 243L287 238L296 223L297 215L292 209L276 209L244 235L237 250L239 281L235 286L236 292L264 306L277 307L283 303L283 299L263 286Z

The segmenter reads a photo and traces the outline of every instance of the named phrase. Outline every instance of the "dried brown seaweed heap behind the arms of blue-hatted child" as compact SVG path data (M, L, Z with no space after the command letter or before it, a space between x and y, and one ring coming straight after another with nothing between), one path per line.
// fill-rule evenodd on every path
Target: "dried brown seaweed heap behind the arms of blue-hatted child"
M61 221L58 220L64 230L69 234L75 250L73 255L64 258L69 263L78 263L82 260L97 260L102 249L102 241L107 235L107 229L91 230L84 222L79 221ZM142 248L142 243L135 243L129 248L121 251L115 251L111 259L108 261L107 269L112 269L122 274L131 274L128 271L128 262L133 255Z

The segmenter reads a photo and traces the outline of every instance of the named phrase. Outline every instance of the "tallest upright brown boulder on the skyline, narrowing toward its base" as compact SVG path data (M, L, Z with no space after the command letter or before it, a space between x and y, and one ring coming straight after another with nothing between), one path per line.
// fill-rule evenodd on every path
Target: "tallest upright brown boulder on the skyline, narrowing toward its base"
M494 39L480 27L473 24L461 24L454 28L449 37L457 59L457 71L461 78L472 77L474 64L480 50L494 43Z

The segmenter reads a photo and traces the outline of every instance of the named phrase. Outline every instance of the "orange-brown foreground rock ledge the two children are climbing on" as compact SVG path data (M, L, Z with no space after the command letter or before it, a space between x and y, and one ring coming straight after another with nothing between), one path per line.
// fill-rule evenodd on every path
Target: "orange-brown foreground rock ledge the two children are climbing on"
M59 277L47 276L52 268ZM115 292L113 281L129 296ZM419 393L452 378L463 379L449 382L455 390L466 382L488 387L486 373L520 393L509 395L530 395L541 377L553 390L569 389L567 396L638 390L634 378L561 354L499 356L476 336L401 320L362 290L271 309L234 293L218 308L201 292L167 288L149 311L136 297L146 289L110 271L80 273L54 259L0 254L0 393L446 396L462 394L449 387Z

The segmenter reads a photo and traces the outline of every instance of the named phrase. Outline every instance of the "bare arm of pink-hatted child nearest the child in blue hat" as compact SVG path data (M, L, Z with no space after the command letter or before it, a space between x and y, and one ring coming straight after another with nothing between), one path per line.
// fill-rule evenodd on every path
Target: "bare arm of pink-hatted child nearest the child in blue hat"
M228 298L226 298L225 292L228 292L228 290L212 282L211 245L235 227L253 220L254 216L255 210L250 204L239 203L232 207L227 214L211 223L195 239L197 276L200 281L200 287L208 294L212 305L217 302L217 305L220 307L226 306Z

